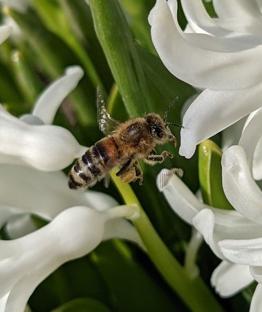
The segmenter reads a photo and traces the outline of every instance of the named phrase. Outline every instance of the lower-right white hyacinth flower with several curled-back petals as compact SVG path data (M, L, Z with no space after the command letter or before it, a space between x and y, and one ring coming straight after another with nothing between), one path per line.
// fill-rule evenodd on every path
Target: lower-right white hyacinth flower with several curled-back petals
M243 137L241 141L245 141ZM221 297L230 297L256 280L259 284L250 311L259 312L262 288L262 192L250 173L243 147L228 148L223 153L222 168L223 189L236 210L217 209L203 204L171 171L161 171L158 187L176 214L194 225L214 254L223 260L211 279L216 291Z

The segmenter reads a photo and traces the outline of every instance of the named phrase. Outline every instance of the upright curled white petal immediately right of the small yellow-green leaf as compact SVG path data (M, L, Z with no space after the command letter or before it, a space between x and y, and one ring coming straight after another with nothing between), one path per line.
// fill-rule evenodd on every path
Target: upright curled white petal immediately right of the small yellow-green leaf
M262 193L252 179L245 150L232 146L222 155L223 189L227 200L245 218L262 223Z

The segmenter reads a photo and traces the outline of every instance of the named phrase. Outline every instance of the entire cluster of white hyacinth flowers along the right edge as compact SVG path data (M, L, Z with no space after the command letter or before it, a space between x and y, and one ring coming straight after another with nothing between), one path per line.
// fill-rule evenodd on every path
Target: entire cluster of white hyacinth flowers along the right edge
M149 16L153 43L167 69L204 89L183 116L180 155L191 157L198 143L227 128L223 189L235 210L203 204L171 171L158 175L158 187L223 260L212 275L216 291L228 297L256 280L250 311L261 311L262 193L255 182L262 177L261 8L256 1L214 0L218 18L212 19L202 1L181 3L185 31L178 25L176 0L157 0Z

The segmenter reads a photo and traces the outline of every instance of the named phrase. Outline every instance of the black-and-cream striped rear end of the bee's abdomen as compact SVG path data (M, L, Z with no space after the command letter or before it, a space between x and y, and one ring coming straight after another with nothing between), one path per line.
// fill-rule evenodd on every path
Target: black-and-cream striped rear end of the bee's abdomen
M96 146L91 146L86 153L75 162L68 175L68 187L80 189L91 187L97 180L104 177L105 170L102 164L100 153Z

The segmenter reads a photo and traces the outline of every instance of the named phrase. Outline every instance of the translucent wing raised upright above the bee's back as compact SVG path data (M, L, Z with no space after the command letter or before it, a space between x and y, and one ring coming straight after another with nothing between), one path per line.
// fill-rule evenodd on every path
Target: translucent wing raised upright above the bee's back
M106 112L106 103L104 102L103 92L100 86L97 87L97 121L104 135L109 135L109 133L120 125L120 121L113 119Z

